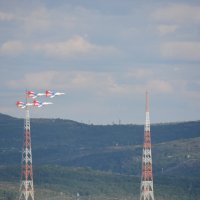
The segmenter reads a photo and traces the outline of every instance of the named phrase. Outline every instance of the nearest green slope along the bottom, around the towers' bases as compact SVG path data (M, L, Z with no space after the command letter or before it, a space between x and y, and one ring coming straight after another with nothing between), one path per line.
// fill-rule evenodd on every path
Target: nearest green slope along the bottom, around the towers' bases
M18 172L15 167L0 168L0 199L18 199ZM60 166L35 167L34 183L35 199L41 200L73 200L77 193L80 200L138 200L140 191L138 177ZM200 198L199 185L198 178L155 177L155 198L196 200Z

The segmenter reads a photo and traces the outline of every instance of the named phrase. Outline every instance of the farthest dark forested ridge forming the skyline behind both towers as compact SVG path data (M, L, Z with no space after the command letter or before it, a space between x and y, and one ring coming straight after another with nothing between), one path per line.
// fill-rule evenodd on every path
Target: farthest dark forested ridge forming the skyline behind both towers
M21 148L24 120L0 114L1 147ZM31 119L32 142L36 147L106 147L143 143L143 125L88 125L63 119ZM200 121L151 125L152 143L200 136Z

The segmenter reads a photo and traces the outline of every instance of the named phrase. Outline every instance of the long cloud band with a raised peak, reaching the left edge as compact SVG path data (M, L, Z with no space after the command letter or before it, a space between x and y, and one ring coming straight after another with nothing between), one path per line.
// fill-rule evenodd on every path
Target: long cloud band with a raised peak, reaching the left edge
M70 58L75 56L112 56L119 51L112 46L92 44L81 36L75 36L67 41L54 43L26 44L21 41L7 41L0 46L0 53L6 55L19 55L24 52L42 53L57 58Z

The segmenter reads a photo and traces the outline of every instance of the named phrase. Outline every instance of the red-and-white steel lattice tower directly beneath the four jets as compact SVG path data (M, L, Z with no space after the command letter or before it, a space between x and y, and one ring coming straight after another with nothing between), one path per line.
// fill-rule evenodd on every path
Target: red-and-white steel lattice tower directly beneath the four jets
M34 200L29 107L26 107L19 200Z

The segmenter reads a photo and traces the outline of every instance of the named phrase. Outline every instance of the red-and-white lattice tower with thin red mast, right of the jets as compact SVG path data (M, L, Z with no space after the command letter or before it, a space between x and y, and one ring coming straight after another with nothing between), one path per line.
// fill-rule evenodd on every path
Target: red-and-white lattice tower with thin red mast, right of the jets
M146 121L144 127L140 200L154 200L148 92L146 92Z

